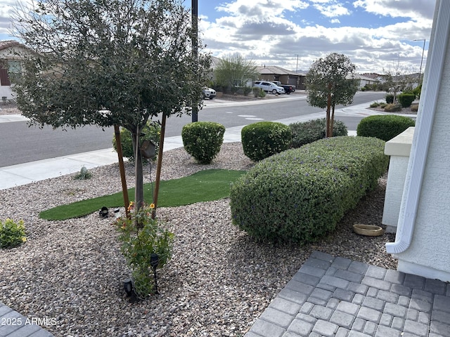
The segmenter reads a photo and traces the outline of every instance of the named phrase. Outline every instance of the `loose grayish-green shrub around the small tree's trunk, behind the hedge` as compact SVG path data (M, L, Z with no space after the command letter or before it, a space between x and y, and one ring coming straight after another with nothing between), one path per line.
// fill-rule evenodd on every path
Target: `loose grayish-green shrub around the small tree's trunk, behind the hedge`
M325 138L326 119L313 119L311 121L302 121L289 124L290 132L293 135L291 147L300 147L302 145L315 142ZM342 121L333 123L333 137L347 136L347 126Z

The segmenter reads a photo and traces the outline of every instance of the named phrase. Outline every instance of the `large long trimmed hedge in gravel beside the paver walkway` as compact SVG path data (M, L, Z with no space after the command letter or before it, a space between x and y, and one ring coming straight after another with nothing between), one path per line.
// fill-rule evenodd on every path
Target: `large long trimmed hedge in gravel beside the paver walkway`
M231 186L233 223L260 241L313 242L387 170L385 142L333 137L257 163Z

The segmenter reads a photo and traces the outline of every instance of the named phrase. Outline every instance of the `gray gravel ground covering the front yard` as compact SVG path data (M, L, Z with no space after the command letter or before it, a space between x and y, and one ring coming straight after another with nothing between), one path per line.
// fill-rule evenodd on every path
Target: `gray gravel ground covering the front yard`
M226 143L211 165L195 164L177 149L165 152L162 166L162 179L171 179L202 169L249 169L252 162L240 143ZM48 319L54 324L43 327L55 336L243 336L311 251L396 267L384 246L392 235L352 231L354 223L380 225L385 179L335 232L307 246L254 242L231 224L229 200L222 199L158 209L176 234L174 256L158 272L160 294L130 303L122 289L129 270L112 218L38 217L53 206L121 190L117 165L90 172L89 180L63 176L0 192L0 218L23 218L28 231L25 244L0 251L0 301L26 317ZM127 164L129 186L133 180Z

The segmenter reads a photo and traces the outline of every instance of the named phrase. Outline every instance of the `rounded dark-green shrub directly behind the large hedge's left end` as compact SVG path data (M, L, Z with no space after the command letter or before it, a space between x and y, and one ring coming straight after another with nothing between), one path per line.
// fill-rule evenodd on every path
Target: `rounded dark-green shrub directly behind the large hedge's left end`
M276 121L259 121L244 126L240 137L244 154L252 161L260 161L288 150L292 133L288 125Z

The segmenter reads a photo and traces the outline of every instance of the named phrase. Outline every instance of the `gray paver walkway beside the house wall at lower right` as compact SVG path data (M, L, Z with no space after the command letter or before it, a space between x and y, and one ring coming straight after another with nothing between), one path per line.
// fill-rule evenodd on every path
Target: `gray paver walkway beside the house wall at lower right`
M245 337L449 337L450 284L314 251Z

